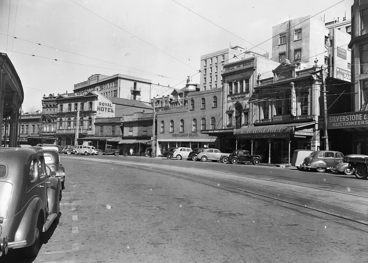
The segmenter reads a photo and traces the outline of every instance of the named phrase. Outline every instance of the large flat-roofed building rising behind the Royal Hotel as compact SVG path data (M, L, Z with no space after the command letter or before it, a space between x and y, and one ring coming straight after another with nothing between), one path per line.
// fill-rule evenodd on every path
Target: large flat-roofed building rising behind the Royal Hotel
M125 98L149 104L151 98L170 94L170 86L152 84L149 79L116 74L106 76L95 74L88 80L74 85L74 93L98 91L106 98Z

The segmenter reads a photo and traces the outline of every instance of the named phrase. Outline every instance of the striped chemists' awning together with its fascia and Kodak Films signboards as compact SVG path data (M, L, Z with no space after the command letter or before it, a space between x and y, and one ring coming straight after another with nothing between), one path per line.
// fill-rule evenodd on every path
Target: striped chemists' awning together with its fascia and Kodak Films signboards
M240 139L267 139L267 138L290 138L291 135L313 135L313 122L283 123L275 125L263 125L244 127L234 130L236 138ZM309 129L307 129L309 128Z

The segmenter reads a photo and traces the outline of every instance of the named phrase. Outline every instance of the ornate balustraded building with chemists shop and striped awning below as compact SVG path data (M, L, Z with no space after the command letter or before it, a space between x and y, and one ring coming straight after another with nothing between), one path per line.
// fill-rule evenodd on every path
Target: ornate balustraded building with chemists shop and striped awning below
M301 70L286 59L272 72L272 78L258 79L254 87L252 126L236 129L234 135L238 144L250 142L249 149L262 155L264 161L290 163L294 149L323 148L323 125L318 127L316 120L325 106L329 113L350 109L350 83L330 77L323 83L319 66ZM326 105L321 99L323 84L329 94ZM334 143L334 149L347 152L342 137L329 136L330 142L340 143Z

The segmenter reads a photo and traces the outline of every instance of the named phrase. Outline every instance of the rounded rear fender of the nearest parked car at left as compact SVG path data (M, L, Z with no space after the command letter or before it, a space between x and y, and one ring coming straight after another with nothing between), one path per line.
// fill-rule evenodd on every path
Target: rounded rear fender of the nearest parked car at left
M45 211L43 208L43 202L39 197L33 198L24 212L17 232L15 233L14 241L26 240L26 246L33 244L33 242L36 240L37 220L40 213L42 213L43 216L42 218L44 220L44 227Z

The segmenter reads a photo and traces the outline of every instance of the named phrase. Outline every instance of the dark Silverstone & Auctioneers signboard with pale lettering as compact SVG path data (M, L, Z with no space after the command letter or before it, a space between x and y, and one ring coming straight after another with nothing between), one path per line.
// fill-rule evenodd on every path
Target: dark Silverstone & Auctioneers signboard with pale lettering
M327 118L328 129L368 127L368 111L331 114Z

